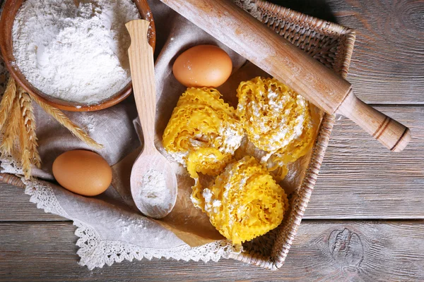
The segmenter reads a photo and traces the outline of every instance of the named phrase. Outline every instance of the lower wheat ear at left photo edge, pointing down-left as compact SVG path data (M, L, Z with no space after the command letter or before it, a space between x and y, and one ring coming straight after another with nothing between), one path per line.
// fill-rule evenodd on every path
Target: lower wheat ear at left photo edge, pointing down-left
M3 140L0 145L1 154L8 155L16 152L16 141L19 137L20 104L19 98L15 95L10 114L6 118L3 128Z

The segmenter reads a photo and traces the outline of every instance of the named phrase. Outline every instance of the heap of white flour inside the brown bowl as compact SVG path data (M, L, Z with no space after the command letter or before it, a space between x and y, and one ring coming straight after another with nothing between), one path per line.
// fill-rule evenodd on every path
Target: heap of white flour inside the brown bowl
M125 23L131 0L27 0L13 23L13 55L25 78L52 97L96 104L131 80Z

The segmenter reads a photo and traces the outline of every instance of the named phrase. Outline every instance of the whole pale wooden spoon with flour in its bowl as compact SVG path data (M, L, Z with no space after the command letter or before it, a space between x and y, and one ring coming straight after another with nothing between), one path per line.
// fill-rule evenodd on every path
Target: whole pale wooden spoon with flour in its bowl
M153 49L147 39L149 25L147 20L126 23L131 36L128 49L131 78L144 139L143 152L134 163L130 183L131 194L139 210L146 216L160 219L169 214L175 205L177 177L154 142L156 92Z

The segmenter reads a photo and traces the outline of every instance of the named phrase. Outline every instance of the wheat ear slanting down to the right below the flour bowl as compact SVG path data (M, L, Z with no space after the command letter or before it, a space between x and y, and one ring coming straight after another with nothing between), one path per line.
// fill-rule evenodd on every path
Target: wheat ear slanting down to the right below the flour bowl
M95 142L93 138L88 136L84 130L79 128L75 123L73 123L67 116L64 115L59 109L56 109L45 102L40 101L40 99L34 99L37 104L39 104L42 109L45 110L47 114L52 116L55 120L57 120L61 125L63 125L65 128L67 128L73 135L78 137L81 141L85 142L87 145L95 148L95 149L102 149L103 145L99 144L98 142Z

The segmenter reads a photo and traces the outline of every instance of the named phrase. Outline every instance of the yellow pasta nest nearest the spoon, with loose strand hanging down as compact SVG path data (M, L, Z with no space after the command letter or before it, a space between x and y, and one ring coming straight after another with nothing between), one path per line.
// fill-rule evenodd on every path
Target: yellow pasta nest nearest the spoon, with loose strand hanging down
M203 208L198 172L218 175L240 146L240 119L212 88L188 88L179 97L163 133L163 147L196 180L192 200Z

